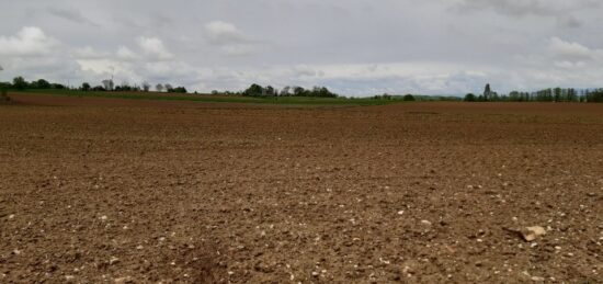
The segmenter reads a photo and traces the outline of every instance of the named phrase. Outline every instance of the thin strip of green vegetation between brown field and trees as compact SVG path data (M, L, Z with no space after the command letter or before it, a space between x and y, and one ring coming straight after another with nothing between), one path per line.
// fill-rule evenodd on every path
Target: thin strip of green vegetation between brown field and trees
M162 100L162 101L192 101L192 102L224 102L224 103L255 103L255 104L283 104L283 105L383 105L401 100L375 100L371 98L318 98L318 96L242 96L242 95L216 95L216 94L181 94L157 92L96 92L80 90L27 90L23 93L114 98L132 100Z

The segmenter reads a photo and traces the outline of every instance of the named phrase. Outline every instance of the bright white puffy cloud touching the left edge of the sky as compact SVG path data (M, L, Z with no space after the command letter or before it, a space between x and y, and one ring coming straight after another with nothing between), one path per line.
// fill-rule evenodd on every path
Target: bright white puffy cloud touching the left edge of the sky
M42 29L36 26L25 26L14 36L0 36L0 55L47 55L57 45L58 42L47 36Z

